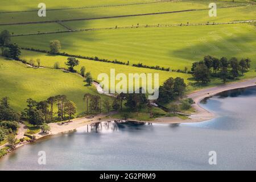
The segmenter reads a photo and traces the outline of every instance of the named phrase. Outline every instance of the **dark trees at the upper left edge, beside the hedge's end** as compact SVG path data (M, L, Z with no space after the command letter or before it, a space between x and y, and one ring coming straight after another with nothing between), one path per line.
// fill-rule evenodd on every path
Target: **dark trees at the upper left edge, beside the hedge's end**
M18 47L17 44L11 43L11 34L9 31L3 30L0 33L0 46L2 56L19 60L20 48Z

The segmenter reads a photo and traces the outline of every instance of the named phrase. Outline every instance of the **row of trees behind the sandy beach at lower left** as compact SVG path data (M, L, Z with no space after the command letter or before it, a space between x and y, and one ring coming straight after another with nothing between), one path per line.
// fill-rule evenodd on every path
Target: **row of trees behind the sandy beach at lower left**
M31 125L43 125L44 122L51 122L55 119L53 108L55 104L57 106L57 119L60 121L66 118L70 120L76 113L75 104L69 101L67 96L57 95L40 102L28 98L27 107L24 109L22 116L27 119Z

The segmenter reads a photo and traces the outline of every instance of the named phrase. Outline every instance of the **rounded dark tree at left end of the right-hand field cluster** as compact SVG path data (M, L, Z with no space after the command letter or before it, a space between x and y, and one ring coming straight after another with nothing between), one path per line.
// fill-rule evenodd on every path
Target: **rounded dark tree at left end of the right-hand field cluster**
M193 72L193 77L197 82L207 84L207 82L210 82L209 68L205 64L198 64Z

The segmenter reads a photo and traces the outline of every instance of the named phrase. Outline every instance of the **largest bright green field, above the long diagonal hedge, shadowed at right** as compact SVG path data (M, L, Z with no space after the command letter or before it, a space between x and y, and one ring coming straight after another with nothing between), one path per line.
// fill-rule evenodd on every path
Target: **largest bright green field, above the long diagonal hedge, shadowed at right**
M22 47L49 49L60 40L62 51L171 69L191 67L205 55L249 57L256 66L256 27L250 24L131 28L14 37Z

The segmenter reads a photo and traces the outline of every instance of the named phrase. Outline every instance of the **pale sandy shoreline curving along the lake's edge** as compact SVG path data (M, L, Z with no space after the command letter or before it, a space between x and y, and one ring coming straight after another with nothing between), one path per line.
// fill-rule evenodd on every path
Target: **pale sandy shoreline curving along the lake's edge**
M193 108L196 110L195 113L191 114L189 116L189 119L180 119L178 117L162 117L162 118L155 118L153 121L139 121L136 119L128 118L127 121L135 121L135 122L147 122L147 123L163 123L163 124L177 124L177 123L193 123L193 122L203 122L203 121L209 121L210 119L213 119L216 117L213 113L208 111L207 109L204 109L204 107L200 106L200 102L204 100L205 98L209 98L212 96L215 96L216 94L228 91L228 90L234 90L234 89L240 89L240 88L248 88L251 86L256 86L256 78L251 78L247 80L241 80L238 82L232 82L228 84L223 84L220 86L214 86L212 88L206 88L201 90L196 90L195 92L187 94L187 98L192 98L195 101L195 104L193 104ZM107 116L111 116L117 112L110 112L108 114L98 114L91 117L83 117L83 118L76 118L72 119L72 122L63 121L63 125L61 122L57 123L49 123L48 125L51 127L51 131L49 133L37 133L34 134L36 139L33 142L36 142L36 140L42 139L44 137L51 137L52 135L58 135L58 134L64 134L69 133L72 131L75 131L76 129L80 127L84 127L86 125L91 125L93 123L97 122L106 122L106 121L114 121L114 120L122 120L118 118L108 118L108 119L102 119ZM32 143L32 142L23 142L15 146L15 151L17 148L23 146L24 144ZM5 144L4 144L5 145ZM2 148L3 146L0 146ZM12 151L10 151L12 152ZM8 154L10 153L8 152Z

